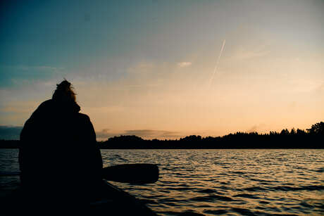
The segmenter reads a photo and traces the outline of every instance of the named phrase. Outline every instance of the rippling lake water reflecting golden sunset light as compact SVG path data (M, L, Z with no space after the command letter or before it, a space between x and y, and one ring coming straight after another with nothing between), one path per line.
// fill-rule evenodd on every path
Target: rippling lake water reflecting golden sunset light
M160 179L114 183L158 215L324 215L324 150L101 150L104 165L156 163ZM0 149L0 170L18 170ZM2 177L2 191L18 185Z

